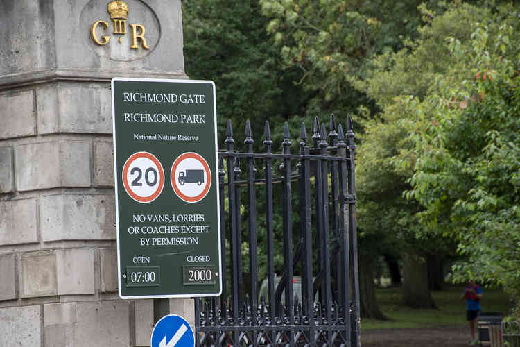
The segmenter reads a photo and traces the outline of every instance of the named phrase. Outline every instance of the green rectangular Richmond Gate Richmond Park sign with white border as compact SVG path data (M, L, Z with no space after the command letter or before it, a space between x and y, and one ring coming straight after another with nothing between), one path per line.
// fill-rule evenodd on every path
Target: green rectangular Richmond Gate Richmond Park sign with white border
M220 295L215 85L112 79L121 298Z

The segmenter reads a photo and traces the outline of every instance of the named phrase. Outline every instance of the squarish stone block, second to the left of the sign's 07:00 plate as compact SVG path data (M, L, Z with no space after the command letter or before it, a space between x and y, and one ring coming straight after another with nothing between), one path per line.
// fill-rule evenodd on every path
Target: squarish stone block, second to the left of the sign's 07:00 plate
M94 250L56 251L58 295L94 294Z

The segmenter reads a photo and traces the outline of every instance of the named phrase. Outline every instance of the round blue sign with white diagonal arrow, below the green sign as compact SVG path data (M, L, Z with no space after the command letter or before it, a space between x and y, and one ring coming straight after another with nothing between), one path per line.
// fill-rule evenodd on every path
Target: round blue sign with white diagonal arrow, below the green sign
M159 319L152 330L151 347L194 347L195 335L188 321L177 314Z

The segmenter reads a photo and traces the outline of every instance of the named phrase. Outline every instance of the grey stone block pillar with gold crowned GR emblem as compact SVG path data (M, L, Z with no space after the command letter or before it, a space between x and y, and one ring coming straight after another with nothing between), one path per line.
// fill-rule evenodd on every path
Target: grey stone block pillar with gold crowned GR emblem
M186 78L180 0L109 2L0 2L0 346L150 344L153 301L117 295L110 79Z

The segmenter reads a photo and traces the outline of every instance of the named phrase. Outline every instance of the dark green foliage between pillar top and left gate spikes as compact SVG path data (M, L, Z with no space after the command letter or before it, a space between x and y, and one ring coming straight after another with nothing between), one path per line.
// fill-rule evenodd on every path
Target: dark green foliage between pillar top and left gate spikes
M282 73L258 1L184 0L182 16L187 74L216 85L219 146L227 119L232 119L239 143L250 119L255 146L262 146L266 119L277 133L275 125L300 112L308 96L293 87L300 71Z

